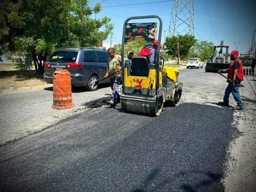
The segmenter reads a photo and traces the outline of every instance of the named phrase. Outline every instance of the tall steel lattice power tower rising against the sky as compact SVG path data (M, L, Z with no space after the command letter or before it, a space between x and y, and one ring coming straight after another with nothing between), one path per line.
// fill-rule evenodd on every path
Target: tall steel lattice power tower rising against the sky
M173 0L168 36L194 36L194 0Z

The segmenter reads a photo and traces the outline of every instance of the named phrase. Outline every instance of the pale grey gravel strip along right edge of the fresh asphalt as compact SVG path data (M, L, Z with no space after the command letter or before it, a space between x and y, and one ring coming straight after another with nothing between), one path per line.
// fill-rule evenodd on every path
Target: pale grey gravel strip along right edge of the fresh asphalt
M225 191L256 191L256 85L255 76L245 76L240 94L244 111L234 111L234 126L242 133L229 149Z

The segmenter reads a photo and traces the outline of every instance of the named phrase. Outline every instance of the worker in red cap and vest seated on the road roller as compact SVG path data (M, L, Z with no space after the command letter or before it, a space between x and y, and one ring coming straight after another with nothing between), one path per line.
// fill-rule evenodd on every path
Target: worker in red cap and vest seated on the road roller
M158 40L152 41L151 45L146 45L142 48L139 56L147 57L149 63L156 63L156 49L158 45Z

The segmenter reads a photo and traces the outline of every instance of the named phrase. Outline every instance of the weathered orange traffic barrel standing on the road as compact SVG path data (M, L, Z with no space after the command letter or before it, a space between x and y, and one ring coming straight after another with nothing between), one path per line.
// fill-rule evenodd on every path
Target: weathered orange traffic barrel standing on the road
M65 69L57 68L53 73L53 105L54 109L73 107L71 91L71 74Z

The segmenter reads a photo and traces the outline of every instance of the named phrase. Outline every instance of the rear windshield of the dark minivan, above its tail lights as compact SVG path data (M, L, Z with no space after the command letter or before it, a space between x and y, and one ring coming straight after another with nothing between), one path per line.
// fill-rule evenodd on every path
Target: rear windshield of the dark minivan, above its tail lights
M78 51L56 51L48 58L50 62L75 62Z

